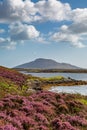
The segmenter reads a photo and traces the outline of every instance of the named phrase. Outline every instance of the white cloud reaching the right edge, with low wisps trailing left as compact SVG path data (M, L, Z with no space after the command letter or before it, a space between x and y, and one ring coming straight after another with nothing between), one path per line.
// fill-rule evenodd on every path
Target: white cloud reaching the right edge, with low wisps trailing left
M66 42L73 46L82 48L87 40L87 8L74 9L71 11L70 25L62 25L60 30L51 35L56 42Z

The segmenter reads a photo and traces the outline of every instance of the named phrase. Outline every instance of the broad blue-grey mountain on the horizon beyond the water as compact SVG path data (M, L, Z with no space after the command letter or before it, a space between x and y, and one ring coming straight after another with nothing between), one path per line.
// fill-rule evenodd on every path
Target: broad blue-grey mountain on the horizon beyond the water
M59 63L52 59L43 59L39 58L32 62L28 62L15 68L29 68L29 69L80 69L77 66L67 64L67 63Z

